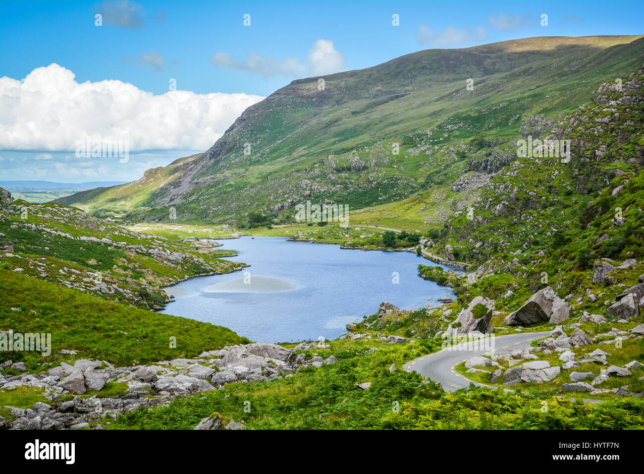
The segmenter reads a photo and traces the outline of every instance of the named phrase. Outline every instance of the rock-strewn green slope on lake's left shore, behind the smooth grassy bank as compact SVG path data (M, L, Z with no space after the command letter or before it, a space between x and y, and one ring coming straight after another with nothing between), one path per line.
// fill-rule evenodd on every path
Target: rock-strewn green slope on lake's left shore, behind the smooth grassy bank
M0 267L103 299L160 310L164 286L244 264L200 242L152 237L53 202L12 201L0 188ZM213 243L214 245L214 243Z

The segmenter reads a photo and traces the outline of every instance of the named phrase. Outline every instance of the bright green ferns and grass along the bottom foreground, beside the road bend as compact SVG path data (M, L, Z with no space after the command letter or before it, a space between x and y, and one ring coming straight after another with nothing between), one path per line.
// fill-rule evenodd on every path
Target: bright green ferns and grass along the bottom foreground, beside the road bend
M345 342L345 344L350 344ZM333 348L333 346L332 346ZM627 429L641 428L644 400L612 399L595 406L557 400L547 392L473 389L444 393L417 373L389 366L435 350L431 343L388 346L369 355L337 351L338 362L294 377L176 399L126 413L108 429L194 428L212 413L251 429ZM356 384L372 382L369 390ZM542 413L542 400L549 410ZM247 410L245 410L247 408ZM248 411L250 408L250 411Z

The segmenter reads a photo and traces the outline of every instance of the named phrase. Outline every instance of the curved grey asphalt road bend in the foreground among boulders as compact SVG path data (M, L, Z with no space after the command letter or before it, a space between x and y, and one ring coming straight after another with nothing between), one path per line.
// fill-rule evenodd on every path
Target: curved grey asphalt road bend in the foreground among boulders
M418 372L434 382L440 382L442 388L446 391L467 388L470 383L479 387L485 387L486 385L484 384L478 384L477 382L466 379L454 367L475 355L483 355L486 353L491 355L492 350L498 354L509 353L514 349L524 350L529 348L532 341L544 339L547 335L547 332L516 333L497 336L487 340L481 339L479 341L463 342L457 346L450 346L438 352L410 360L410 362L403 364L403 370ZM480 341L487 342L484 344Z

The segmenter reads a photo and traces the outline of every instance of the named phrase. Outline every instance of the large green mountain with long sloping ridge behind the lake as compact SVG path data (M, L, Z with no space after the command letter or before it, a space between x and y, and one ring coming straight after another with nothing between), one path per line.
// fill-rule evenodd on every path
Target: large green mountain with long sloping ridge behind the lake
M245 110L207 152L57 201L126 221L165 221L174 207L179 221L232 224L249 212L287 221L307 200L352 210L413 196L468 201L480 186L461 191L459 179L509 163L513 152L497 148L521 126L573 112L643 61L641 36L537 37L299 79Z

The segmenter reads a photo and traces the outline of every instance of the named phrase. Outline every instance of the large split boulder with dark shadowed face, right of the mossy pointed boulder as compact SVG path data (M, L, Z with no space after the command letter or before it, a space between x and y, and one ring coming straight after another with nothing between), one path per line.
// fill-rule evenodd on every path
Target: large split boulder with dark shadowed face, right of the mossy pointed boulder
M529 297L521 308L507 315L506 324L529 326L544 321L559 324L570 317L571 311L571 306L546 286Z

